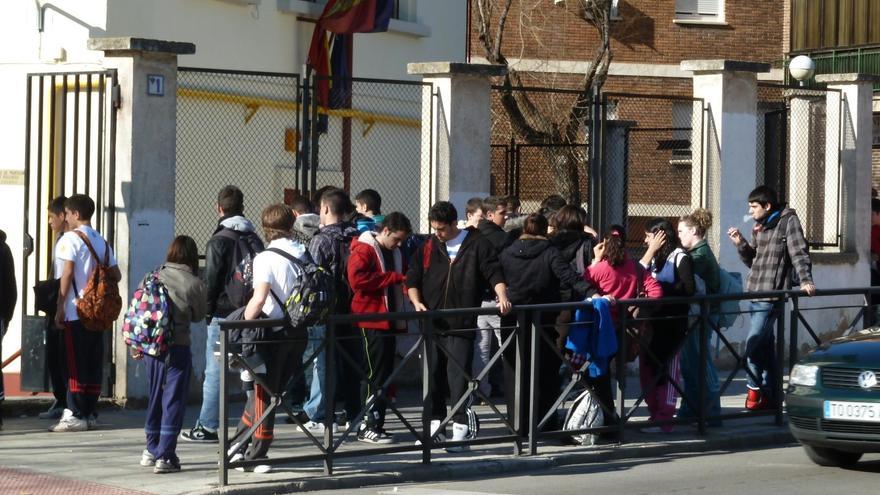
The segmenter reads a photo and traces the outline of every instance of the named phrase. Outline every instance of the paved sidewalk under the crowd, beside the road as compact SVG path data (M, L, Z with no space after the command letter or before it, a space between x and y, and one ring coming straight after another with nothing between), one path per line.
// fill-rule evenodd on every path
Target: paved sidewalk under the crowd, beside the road
M723 402L725 413L740 411L742 404L743 396L726 396ZM10 404L4 407L9 408ZM236 417L240 408L240 404L233 404L230 415ZM193 424L198 412L198 407L187 410L186 427ZM641 412L642 409L639 410ZM479 407L478 413L482 423L481 436L502 433L500 423L492 417L488 407ZM405 408L404 415L408 420L415 420L418 410ZM119 493L120 488L130 490L128 493L156 494L283 493L521 473L612 459L750 449L793 441L787 426L773 425L772 417L758 417L726 421L723 427L709 429L705 437L697 435L696 427L679 426L675 433L669 435L648 435L635 429L627 430L627 443L621 446L571 447L561 446L555 441L541 442L539 455L535 457L512 456L512 444L506 443L474 447L471 452L459 454L435 450L431 465L421 464L421 452L336 459L331 477L323 476L319 462L277 466L268 474L233 470L229 472L229 486L221 491L218 488L216 444L181 441L178 454L183 471L180 473L154 475L151 469L140 467L138 460L143 449L143 419L142 410L105 408L99 417L97 430L59 434L49 433L46 428L51 423L35 416L7 416L4 430L0 431L0 492L6 493L6 490L15 488L14 493L39 493L34 484L40 481L44 484L39 486L43 487L53 484L72 487L85 482L104 485L100 489L98 485L93 485L77 492L89 494ZM279 422L281 424L276 429L276 441L269 452L270 456L280 455L282 450L285 455L318 452L307 443L303 433L296 432L292 425L284 424L281 418ZM399 422L389 421L388 427L398 433L401 444L412 442ZM369 448L371 446L349 436L341 450ZM19 480L27 478L29 491L23 492L19 489L20 485L11 485L16 478L10 478L8 473L16 474ZM70 480L75 482L71 483Z

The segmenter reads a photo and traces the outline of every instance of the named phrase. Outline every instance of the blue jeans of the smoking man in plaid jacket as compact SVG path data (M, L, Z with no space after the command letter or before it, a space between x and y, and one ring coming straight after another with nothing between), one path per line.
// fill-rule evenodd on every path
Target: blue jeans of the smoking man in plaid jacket
M781 308L775 310L774 303L752 301L752 322L746 337L746 359L749 371L749 388L764 389L770 392L776 383L776 338L773 335L776 320ZM753 378L754 376L754 378Z

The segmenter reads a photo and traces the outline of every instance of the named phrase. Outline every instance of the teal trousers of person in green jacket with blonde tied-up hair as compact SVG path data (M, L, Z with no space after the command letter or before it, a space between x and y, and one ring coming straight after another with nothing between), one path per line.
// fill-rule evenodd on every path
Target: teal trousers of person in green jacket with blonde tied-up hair
M706 337L706 414L709 417L717 417L721 415L721 397L718 396L720 385L718 383L718 372L715 370L715 363L712 362L712 356L709 354L709 342L712 337L712 325L718 324L718 316L709 315L710 326L707 328L708 335ZM691 403L698 406L700 400L700 323L691 327L690 333L685 338L684 345L681 348L681 377L684 380L684 393L690 402L682 398L681 406L678 408L678 417L695 418L699 411L691 409Z

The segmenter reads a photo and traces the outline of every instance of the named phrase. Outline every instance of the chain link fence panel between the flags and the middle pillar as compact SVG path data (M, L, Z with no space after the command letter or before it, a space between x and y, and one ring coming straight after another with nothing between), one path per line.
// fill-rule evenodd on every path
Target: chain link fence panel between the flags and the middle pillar
M416 222L423 189L431 187L430 148L422 147L431 129L422 126L422 117L432 111L432 85L366 78L331 82L349 85L350 92L332 98L331 108L316 109L311 165L316 186L341 187L352 197L374 189L382 196L383 213L400 211Z

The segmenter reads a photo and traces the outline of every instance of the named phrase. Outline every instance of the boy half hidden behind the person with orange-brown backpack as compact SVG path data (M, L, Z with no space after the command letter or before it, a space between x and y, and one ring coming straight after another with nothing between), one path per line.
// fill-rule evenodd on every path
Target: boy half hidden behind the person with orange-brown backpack
M58 196L49 201L47 207L49 228L55 238L55 246L52 253L52 275L60 279L64 271L64 261L58 259L55 254L58 251L58 242L61 236L68 231L67 219L64 216L64 201L67 198ZM39 414L40 419L59 419L67 408L67 380L64 376L67 369L67 361L64 353L64 335L55 327L55 314L46 315L46 369L49 372L49 380L52 383L52 395L55 402L47 411Z

